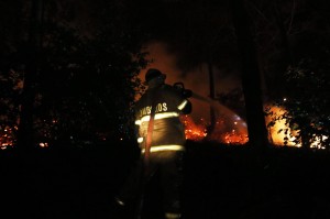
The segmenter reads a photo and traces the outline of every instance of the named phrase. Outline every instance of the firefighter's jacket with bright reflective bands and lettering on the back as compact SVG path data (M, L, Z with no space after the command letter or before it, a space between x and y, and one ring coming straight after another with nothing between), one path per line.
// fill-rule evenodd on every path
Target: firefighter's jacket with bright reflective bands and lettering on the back
M153 107L154 106L154 107ZM151 152L185 150L185 128L182 114L190 113L191 102L175 87L163 84L148 88L135 105L139 145L144 152L151 112L155 108Z

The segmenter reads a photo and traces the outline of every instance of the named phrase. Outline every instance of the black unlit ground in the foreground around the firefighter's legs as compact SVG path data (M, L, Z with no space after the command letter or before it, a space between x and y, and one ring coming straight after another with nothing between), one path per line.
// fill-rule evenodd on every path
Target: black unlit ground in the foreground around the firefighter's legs
M112 198L138 150L129 143L0 152L0 218L111 219ZM185 219L330 218L330 154L188 142ZM144 218L162 219L157 177ZM133 219L134 208L121 213Z

